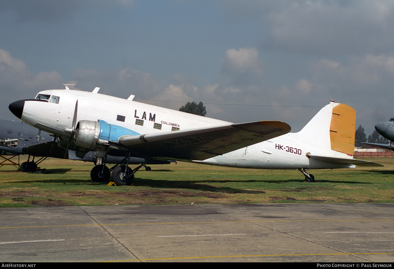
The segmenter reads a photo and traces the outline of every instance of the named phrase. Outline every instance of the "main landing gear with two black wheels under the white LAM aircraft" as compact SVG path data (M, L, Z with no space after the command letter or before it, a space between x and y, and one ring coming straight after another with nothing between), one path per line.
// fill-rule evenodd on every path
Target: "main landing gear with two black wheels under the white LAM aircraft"
M96 165L90 172L90 177L93 182L107 182L111 179L116 186L131 185L134 181L134 174L141 168L145 167L146 171L150 171L150 167L146 166L149 160L146 160L143 164L137 168L131 169L128 167L128 160L130 159L130 153L121 162L108 168L106 163L107 155L103 159L103 164ZM123 163L123 164L122 164Z

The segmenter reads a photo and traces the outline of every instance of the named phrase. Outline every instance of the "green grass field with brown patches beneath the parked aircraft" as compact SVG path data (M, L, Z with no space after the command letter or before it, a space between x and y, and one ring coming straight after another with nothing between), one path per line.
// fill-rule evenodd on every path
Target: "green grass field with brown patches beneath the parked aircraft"
M20 162L24 160L21 157ZM0 207L188 203L393 203L394 158L385 168L257 170L178 162L139 170L133 186L93 183L93 164L51 158L45 173L0 168ZM134 166L130 166L134 167Z

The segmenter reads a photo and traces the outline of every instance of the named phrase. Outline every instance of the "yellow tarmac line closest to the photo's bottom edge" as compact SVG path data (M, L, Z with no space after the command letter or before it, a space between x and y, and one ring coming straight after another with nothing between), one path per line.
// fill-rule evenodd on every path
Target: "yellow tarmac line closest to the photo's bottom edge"
M234 255L234 256L201 256L201 257L179 257L179 258L154 258L154 259L136 259L121 260L110 262L134 262L134 261L155 261L155 260L181 260L181 259L206 259L206 258L244 258L244 257L278 257L278 256L319 256L319 255L384 255L389 253L316 253L316 254L264 254L264 255Z

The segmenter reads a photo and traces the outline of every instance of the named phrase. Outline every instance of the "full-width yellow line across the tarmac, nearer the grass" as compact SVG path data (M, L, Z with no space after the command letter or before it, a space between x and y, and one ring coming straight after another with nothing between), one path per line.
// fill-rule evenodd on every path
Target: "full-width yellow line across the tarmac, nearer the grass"
M41 228L41 227L69 227L69 226L108 226L108 225L156 225L156 224L192 224L192 223L240 223L240 222L302 222L302 221L394 221L394 219L313 219L313 220L266 220L266 221L195 221L195 222L153 222L153 223L115 223L115 224L74 224L74 225L46 225L46 226L19 226L6 228Z

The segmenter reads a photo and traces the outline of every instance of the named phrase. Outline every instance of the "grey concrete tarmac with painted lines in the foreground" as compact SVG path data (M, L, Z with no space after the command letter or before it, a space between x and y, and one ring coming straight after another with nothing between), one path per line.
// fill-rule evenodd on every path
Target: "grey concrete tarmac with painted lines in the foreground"
M0 262L394 262L393 204L0 208Z

